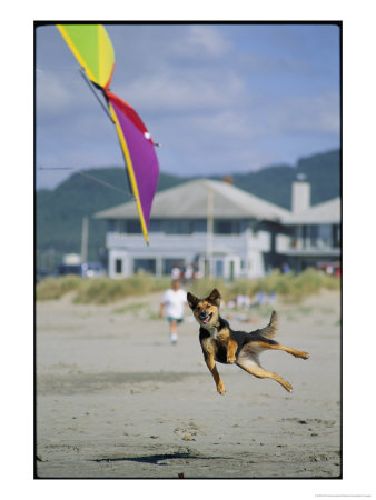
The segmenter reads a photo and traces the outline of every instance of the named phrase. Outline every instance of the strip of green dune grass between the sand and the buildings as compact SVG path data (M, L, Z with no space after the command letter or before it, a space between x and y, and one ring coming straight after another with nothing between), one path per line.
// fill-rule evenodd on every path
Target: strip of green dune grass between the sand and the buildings
M125 279L91 278L77 276L47 278L37 284L37 300L57 300L68 292L72 292L76 303L106 304L116 302L126 297L145 296L152 292L162 292L170 287L170 278L156 278L150 274L137 274ZM201 279L191 284L184 286L198 297L207 296L214 288L218 288L225 301L238 294L250 298L257 292L276 292L286 302L300 302L305 297L318 293L320 290L339 290L340 280L329 277L315 269L306 269L295 274L273 272L260 279L239 279L226 282L221 279Z

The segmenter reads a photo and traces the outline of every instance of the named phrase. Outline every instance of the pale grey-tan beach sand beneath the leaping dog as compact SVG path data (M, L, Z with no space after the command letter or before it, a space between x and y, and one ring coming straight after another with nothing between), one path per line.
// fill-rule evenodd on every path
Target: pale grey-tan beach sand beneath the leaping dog
M160 297L37 302L37 477L340 477L339 293L274 306L276 340L310 353L307 361L261 354L293 393L218 363L225 396L188 309L170 346ZM232 328L250 331L268 322L271 309L221 312Z

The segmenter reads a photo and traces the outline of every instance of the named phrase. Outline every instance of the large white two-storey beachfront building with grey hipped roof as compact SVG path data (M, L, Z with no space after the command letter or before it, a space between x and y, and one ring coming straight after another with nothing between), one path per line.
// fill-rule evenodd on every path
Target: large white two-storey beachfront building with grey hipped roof
M304 199L309 199L305 184L297 187L295 204L301 208L295 212L228 182L199 179L167 189L154 200L149 247L133 202L101 211L96 218L108 221L109 276L139 270L162 276L192 264L200 276L258 278L286 260L294 266L306 220L297 217L306 212ZM339 226L339 212L334 223Z

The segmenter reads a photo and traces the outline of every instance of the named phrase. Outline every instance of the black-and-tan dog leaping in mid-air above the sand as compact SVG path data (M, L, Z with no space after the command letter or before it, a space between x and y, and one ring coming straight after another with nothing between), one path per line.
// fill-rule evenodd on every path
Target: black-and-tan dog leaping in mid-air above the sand
M216 361L225 364L237 364L248 373L260 379L270 378L279 382L288 392L293 392L293 387L277 373L267 371L260 367L258 354L266 349L278 349L288 352L296 358L308 359L305 351L281 346L271 340L278 327L277 313L273 311L270 322L267 327L247 333L245 331L234 331L228 321L219 316L220 293L214 289L206 299L198 299L190 292L187 300L197 322L200 326L199 340L205 358L205 362L212 374L217 386L217 391L225 394L224 382L217 371Z

